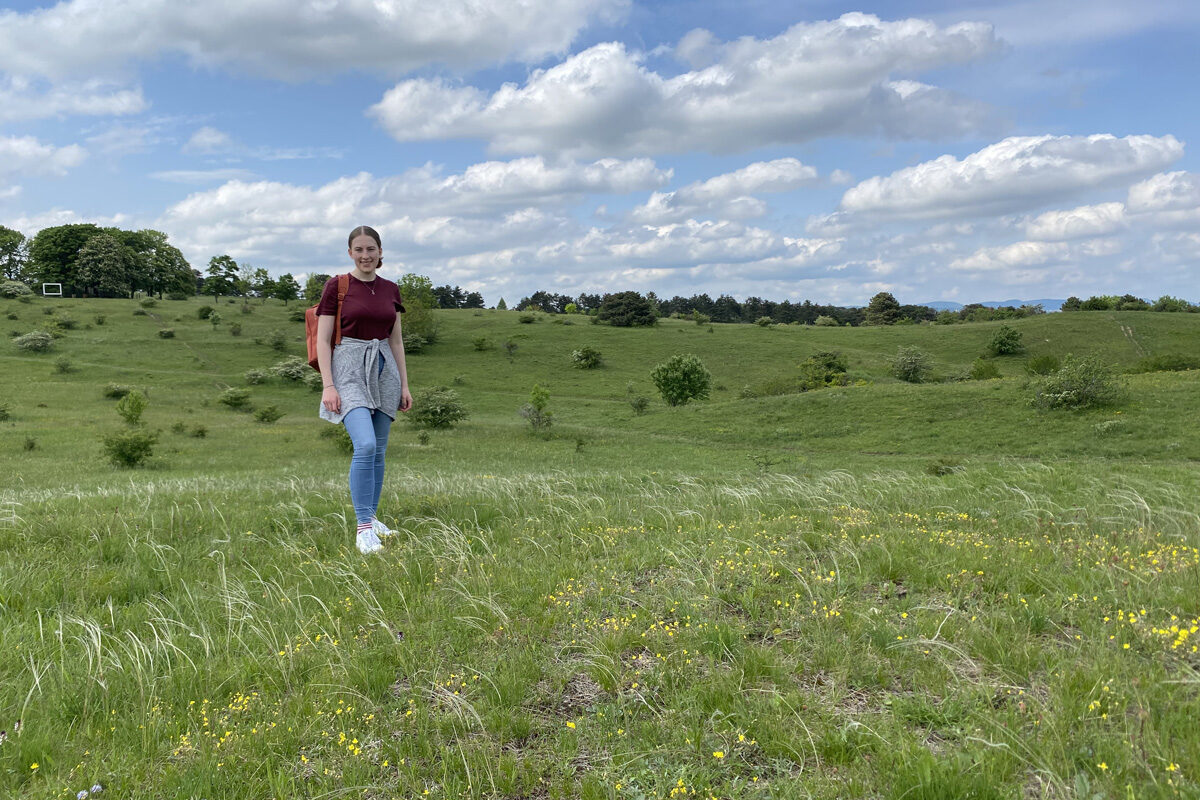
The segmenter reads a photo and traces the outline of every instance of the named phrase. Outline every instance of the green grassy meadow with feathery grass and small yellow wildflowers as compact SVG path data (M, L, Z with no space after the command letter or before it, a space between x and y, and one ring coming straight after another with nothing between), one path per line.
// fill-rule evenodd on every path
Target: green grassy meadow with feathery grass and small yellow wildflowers
M1194 355L1200 315L1013 320L1002 378L948 381L1000 323L437 312L409 378L469 417L397 421L362 557L318 393L245 378L302 354L293 308L0 300L68 319L0 344L0 796L1200 796L1200 371L1088 411L1025 373ZM910 344L936 383L888 375ZM756 391L820 350L851 385ZM709 401L656 397L676 353ZM109 384L149 399L142 467L102 452Z

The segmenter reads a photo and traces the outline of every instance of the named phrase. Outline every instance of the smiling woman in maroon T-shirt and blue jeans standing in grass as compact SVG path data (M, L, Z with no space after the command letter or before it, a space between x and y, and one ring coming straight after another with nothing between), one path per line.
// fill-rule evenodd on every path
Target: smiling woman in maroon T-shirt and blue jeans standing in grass
M378 275L383 243L373 228L350 231L349 287L342 299L342 341L332 347L337 314L337 277L325 282L317 305L317 365L324 389L320 419L346 426L354 443L350 501L358 518L358 547L374 553L379 536L395 531L376 517L383 489L388 432L396 411L413 407L404 366L400 287Z

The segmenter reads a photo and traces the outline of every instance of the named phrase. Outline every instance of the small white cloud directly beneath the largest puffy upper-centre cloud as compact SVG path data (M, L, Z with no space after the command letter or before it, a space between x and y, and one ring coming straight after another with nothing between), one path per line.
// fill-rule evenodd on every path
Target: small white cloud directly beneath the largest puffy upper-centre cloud
M702 215L732 219L760 217L767 212L767 205L755 194L790 192L816 179L817 170L796 158L760 161L674 192L655 192L630 212L630 218L662 223Z

